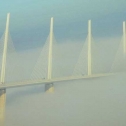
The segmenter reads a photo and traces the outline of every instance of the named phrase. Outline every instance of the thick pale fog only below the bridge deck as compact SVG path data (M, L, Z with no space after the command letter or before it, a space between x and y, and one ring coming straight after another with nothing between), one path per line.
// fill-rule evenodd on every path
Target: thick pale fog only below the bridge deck
M7 126L123 126L125 74L7 91Z

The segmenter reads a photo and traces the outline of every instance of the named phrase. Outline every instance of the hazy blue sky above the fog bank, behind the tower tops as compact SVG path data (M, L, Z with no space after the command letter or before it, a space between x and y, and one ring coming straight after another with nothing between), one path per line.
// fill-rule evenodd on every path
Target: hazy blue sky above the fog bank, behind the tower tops
M10 32L18 46L36 47L44 43L54 17L54 33L64 39L85 39L87 21L92 20L94 37L122 34L126 20L125 0L0 0L0 35L7 12L11 13Z

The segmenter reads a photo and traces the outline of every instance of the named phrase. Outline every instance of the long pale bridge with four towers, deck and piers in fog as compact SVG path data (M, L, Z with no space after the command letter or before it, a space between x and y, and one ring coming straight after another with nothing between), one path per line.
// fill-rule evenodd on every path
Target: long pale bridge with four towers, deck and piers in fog
M78 61L75 65L75 68L71 75L66 77L53 77L53 45L55 43L55 37L53 33L53 17L50 22L50 33L48 39L43 46L41 55L38 58L38 61L35 64L35 67L32 71L30 79L22 81L6 81L6 71L8 50L13 48L13 43L11 43L10 34L9 34L9 21L10 13L7 14L6 29L3 37L1 38L1 77L0 77L0 125L4 126L5 122L5 105L6 105L6 90L14 87L21 86L32 86L32 85L45 85L45 92L54 92L54 83L62 81L71 81L78 79L90 79L114 75L117 71L115 68L117 65L121 64L121 61L118 60L118 57L122 56L122 62L125 63L125 54L126 54L126 23L123 22L123 41L120 43L120 47L117 51L115 61L111 66L111 70L108 72L93 72L93 39L92 39L92 29L91 29L91 20L88 21L88 35L86 42L82 48L82 51L79 55ZM13 55L11 55L13 56ZM12 60L13 62L14 59ZM8 60L9 62L9 60ZM12 62L12 64L13 64ZM43 63L44 62L44 63ZM10 63L10 62L9 62ZM12 67L14 70L14 67ZM18 71L17 71L18 72Z

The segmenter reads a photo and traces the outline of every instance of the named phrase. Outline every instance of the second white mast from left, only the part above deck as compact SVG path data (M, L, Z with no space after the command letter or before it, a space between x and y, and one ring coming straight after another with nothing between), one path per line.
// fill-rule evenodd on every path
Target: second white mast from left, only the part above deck
M53 17L50 22L49 55L48 55L48 79L52 78L52 45L53 45Z

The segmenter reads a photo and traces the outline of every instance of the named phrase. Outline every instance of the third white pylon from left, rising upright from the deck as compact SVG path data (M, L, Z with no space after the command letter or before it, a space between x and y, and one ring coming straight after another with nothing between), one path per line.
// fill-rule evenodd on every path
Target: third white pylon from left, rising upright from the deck
M88 75L92 74L91 70L91 20L88 21Z

